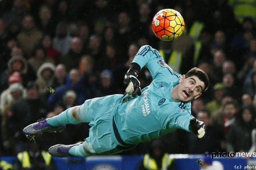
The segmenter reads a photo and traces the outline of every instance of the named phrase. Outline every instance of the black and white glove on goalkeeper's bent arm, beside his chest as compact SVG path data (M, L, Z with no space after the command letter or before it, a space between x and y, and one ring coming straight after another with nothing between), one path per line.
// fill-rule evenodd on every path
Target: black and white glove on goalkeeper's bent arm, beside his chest
M134 69L129 69L125 74L124 84L128 85L125 89L125 92L132 97L141 95L140 81L137 79L139 72Z

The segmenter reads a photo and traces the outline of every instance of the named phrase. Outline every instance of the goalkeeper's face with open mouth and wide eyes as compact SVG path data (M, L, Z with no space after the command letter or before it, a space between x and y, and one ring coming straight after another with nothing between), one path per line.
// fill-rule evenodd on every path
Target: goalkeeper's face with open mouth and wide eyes
M197 76L193 75L185 79L185 75L179 80L180 84L177 86L177 99L179 101L189 101L201 96L201 92L204 89L204 82L202 82Z

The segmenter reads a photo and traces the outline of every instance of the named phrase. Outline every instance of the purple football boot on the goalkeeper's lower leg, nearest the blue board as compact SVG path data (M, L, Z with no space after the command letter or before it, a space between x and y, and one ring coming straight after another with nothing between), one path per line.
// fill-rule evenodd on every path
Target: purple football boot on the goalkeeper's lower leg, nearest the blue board
M48 149L49 154L56 157L68 157L73 156L69 153L69 149L76 145L81 145L84 142L75 143L73 145L54 145L51 148Z

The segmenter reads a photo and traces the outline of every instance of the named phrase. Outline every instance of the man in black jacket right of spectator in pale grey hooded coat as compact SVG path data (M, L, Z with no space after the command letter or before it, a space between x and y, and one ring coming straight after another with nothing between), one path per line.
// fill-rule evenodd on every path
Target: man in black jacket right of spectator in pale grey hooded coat
M83 42L81 38L74 37L71 41L71 48L66 55L61 58L61 63L65 64L67 71L79 67L79 61L83 53Z

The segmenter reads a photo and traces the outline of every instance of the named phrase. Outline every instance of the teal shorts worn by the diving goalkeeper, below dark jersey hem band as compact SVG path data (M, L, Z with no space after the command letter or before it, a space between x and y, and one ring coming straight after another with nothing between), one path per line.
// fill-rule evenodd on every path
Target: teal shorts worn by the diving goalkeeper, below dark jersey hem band
M89 137L85 139L85 148L95 154L112 155L134 146L123 145L116 138L113 128L113 116L116 105L123 95L111 95L86 100L79 107L78 115L83 122L88 122Z

